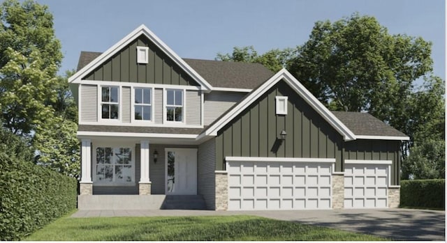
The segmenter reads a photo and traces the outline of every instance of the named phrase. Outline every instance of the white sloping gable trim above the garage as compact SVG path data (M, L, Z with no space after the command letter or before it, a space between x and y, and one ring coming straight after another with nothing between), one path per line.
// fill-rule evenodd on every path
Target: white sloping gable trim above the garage
M349 130L346 125L342 123L332 112L330 112L320 101L316 99L312 93L310 93L305 86L300 84L300 81L295 79L290 72L286 69L282 69L273 75L268 81L265 81L256 91L252 92L248 97L246 97L242 102L237 104L230 112L228 112L225 116L220 118L217 123L214 123L212 127L209 127L205 131L205 135L217 136L217 132L225 126L230 120L235 118L240 112L244 111L249 105L251 105L258 97L261 97L263 93L267 92L274 84L277 84L278 81L284 79L298 94L302 96L307 103L313 107L323 118L328 121L332 127L337 130L340 134L342 134L344 141L356 140L356 135ZM200 134L201 135L201 134Z

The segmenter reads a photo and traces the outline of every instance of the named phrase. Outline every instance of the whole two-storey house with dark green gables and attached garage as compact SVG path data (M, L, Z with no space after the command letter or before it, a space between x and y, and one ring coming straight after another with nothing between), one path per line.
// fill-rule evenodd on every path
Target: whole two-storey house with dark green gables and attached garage
M368 113L329 111L287 70L180 58L142 25L82 52L68 81L80 209L399 205L409 137Z

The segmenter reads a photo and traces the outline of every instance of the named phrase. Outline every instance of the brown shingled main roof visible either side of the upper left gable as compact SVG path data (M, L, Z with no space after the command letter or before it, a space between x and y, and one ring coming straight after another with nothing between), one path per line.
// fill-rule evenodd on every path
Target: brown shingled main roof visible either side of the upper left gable
M89 64L101 52L81 52L78 71ZM259 63L241 63L231 61L211 61L183 58L188 65L213 87L253 89L272 77L272 71Z

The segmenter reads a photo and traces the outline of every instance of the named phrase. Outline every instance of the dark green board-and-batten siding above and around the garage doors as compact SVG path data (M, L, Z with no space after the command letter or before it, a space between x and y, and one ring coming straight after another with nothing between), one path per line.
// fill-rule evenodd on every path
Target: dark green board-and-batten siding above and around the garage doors
M275 97L287 96L287 115L276 115ZM279 141L281 130L286 140ZM217 133L216 170L225 170L225 157L335 158L335 171L344 159L390 159L391 183L399 185L400 141L358 140L342 136L285 81L279 81Z

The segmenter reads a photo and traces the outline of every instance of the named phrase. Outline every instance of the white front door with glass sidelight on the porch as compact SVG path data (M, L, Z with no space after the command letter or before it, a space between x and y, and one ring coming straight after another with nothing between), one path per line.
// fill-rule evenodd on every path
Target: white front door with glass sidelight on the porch
M197 194L197 149L166 148L166 194Z

